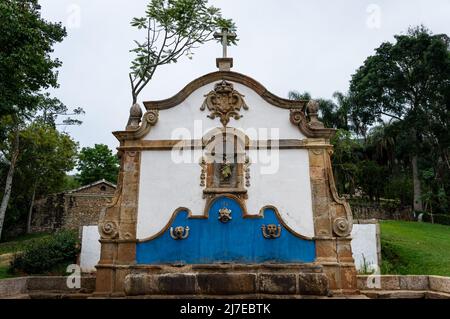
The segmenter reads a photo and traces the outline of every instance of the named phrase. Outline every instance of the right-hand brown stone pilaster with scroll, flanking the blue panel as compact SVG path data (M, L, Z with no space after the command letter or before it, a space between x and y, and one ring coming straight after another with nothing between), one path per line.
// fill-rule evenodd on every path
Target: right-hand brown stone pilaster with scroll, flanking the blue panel
M356 292L356 269L352 257L351 211L338 197L332 175L332 146L325 139L307 140L313 202L317 263L323 266L330 289Z

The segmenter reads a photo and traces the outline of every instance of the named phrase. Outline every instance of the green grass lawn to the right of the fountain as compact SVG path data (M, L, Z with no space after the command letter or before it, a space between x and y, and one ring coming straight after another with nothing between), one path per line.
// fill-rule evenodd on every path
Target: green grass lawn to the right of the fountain
M383 274L450 276L450 226L400 221L380 225Z

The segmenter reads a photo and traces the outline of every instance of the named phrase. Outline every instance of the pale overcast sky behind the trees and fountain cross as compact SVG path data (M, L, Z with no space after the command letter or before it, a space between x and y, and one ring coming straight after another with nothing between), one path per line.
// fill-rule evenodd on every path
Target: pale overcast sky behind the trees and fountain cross
M142 40L130 26L147 0L41 0L42 14L68 31L55 56L63 62L61 87L52 91L70 108L83 107L80 127L68 127L80 146L118 142L131 105L129 50ZM269 91L290 90L331 98L346 92L367 56L409 26L424 24L450 35L450 0L214 0L238 27L239 44L229 49L233 71L249 75ZM216 71L217 43L197 49L193 60L157 70L140 102L171 97L193 79Z

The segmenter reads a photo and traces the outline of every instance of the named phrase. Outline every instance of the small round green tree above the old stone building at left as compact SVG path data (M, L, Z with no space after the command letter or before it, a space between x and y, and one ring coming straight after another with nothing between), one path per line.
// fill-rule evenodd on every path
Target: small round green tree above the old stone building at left
M119 174L119 160L104 144L84 147L78 155L78 179L82 185L101 179L116 183Z

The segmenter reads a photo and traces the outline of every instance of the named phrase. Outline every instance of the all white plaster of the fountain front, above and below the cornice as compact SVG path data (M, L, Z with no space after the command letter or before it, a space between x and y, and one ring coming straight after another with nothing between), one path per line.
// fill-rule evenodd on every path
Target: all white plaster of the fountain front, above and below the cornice
M245 95L249 110L241 109L241 119L231 119L229 127L243 131L251 140L304 139L298 127L289 121L289 110L267 103L250 88L233 83ZM162 110L158 123L146 140L201 139L208 131L221 126L218 118L200 111L205 95L214 83L193 92L180 105ZM258 214L264 206L275 206L284 222L295 232L314 237L309 157L307 150L250 151L249 214ZM180 156L187 161L180 162ZM159 233L170 221L173 212L185 207L201 215L206 201L200 187L199 153L144 151L141 161L137 238L145 239ZM175 159L175 160L174 160ZM188 162L188 163L186 163Z

